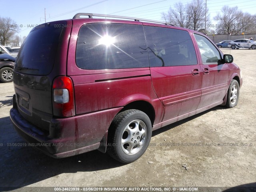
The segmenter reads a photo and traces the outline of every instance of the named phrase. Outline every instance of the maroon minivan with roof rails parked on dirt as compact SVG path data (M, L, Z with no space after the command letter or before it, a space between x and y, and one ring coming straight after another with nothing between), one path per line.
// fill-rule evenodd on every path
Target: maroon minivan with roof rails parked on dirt
M153 130L234 107L241 86L233 57L199 32L80 13L31 30L14 67L10 117L20 136L52 157L98 149L130 163Z

